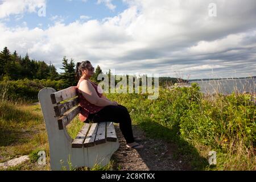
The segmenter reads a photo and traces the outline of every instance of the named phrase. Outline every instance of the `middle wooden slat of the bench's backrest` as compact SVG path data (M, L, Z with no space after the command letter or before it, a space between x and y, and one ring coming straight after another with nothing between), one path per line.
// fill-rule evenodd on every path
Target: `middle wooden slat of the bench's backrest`
M74 98L73 100L70 100L68 102L65 102L64 104L58 104L54 106L55 116L60 117L63 116L65 112L67 112L72 107L75 107L79 104L79 98Z

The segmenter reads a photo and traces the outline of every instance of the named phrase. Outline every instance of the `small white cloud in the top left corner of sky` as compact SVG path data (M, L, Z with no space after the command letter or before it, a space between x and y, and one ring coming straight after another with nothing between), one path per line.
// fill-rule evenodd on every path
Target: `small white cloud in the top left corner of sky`
M46 5L46 0L2 0L0 4L0 19L25 12L36 12L43 5Z

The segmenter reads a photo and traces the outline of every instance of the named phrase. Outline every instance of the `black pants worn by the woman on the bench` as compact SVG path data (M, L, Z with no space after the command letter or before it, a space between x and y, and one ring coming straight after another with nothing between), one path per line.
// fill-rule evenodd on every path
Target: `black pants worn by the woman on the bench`
M126 143L133 143L133 130L131 129L131 117L125 106L105 106L98 113L89 114L86 119L86 123L89 122L106 122L113 121L119 123L120 130L122 131L123 137L125 137Z

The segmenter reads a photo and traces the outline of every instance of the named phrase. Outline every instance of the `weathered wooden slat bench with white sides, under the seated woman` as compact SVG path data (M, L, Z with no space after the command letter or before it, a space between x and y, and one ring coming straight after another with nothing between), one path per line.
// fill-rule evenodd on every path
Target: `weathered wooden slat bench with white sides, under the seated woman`
M70 163L72 167L105 166L119 148L113 122L109 121L84 123L75 139L69 136L66 126L80 113L76 91L76 86L71 86L58 92L53 88L43 88L38 93L52 170L69 169Z

